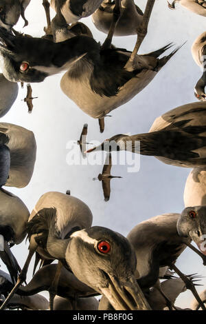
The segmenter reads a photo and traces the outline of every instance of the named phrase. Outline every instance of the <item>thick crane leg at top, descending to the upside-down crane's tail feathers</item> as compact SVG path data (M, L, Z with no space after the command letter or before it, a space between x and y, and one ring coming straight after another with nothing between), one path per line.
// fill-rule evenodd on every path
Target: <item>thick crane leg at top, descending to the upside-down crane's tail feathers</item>
M137 28L137 42L135 44L135 48L132 54L130 55L130 59L128 59L125 65L126 70L133 70L133 63L135 61L136 54L139 51L141 43L144 41L146 34L148 33L148 23L150 21L150 16L152 14L152 9L154 4L155 4L155 0L148 0L146 4L141 26Z

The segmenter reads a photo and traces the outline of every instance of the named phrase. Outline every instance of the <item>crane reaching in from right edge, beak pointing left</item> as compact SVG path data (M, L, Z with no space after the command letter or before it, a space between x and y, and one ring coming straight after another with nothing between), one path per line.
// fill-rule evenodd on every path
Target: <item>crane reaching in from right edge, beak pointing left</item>
M118 134L87 152L128 150L155 156L166 164L198 168L206 164L205 111L206 103L181 105L155 119L148 133Z

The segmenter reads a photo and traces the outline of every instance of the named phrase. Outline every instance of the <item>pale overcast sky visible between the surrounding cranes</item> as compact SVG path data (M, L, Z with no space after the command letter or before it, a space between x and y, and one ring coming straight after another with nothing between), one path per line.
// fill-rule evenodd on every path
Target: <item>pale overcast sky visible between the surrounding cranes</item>
M145 2L138 1L142 10ZM43 35L46 19L41 3L42 0L31 1L25 11L29 26L23 29L23 20L20 19L16 30L35 37ZM82 22L91 28L96 41L104 41L106 35L95 29L91 18L82 19ZM27 106L22 101L26 87L22 90L19 86L19 96L1 121L32 130L36 137L37 156L30 184L23 189L8 190L19 196L31 212L45 192L66 192L69 189L73 196L89 205L93 212L93 225L109 227L125 236L137 223L152 216L181 212L184 208L183 190L190 173L189 168L166 165L152 156L141 156L140 170L136 173L128 173L126 165L114 165L112 174L123 178L111 181L111 198L106 203L102 183L92 180L102 171L102 165L67 165L67 143L79 139L84 123L89 124L88 140L91 143L120 133L148 132L153 121L164 112L196 101L194 85L201 77L201 70L193 61L190 49L196 37L204 31L205 17L193 14L180 5L176 6L176 10L169 10L166 0L156 0L148 35L139 53L152 52L171 42L175 45L181 45L185 41L187 43L147 88L125 105L113 110L112 117L105 119L103 134L99 132L98 120L84 114L62 93L62 74L49 77L43 83L32 84L33 96L38 97L33 101L32 114L27 113ZM133 50L135 41L134 36L114 37L113 44ZM21 267L27 256L27 246L28 243L24 241L12 248ZM205 274L201 258L188 248L176 264L185 274ZM1 269L5 270L4 265ZM32 267L28 280L31 277ZM203 279L202 283L205 285L206 280ZM198 291L203 288L199 287ZM192 293L185 292L178 298L176 305L189 307L192 299Z

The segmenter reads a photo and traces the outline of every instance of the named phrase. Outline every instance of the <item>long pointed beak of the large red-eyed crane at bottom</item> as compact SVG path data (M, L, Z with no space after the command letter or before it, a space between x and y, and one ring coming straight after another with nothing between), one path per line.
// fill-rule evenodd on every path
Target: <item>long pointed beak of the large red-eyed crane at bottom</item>
M102 288L101 291L115 310L151 310L133 276L124 282L109 274L107 276L108 287Z

